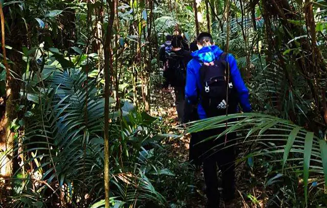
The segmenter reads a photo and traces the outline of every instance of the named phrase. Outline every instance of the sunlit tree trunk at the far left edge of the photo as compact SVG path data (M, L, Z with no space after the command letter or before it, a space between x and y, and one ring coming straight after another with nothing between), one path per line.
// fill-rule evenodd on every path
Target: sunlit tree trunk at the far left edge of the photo
M5 37L7 37L7 44L13 49L21 51L22 38L20 37L20 29L17 25L13 25L10 33L5 34L5 19L0 4L0 16L2 26L2 53L4 55L4 64L6 66L6 108L5 117L0 122L0 148L6 153L6 155L0 158L0 177L10 178L13 170L12 156L14 149L14 132L10 130L10 124L17 118L17 106L19 105L19 90L21 73L19 67L21 67L22 55L14 50L8 53L8 59L12 61L12 64L8 65L6 60L5 50Z

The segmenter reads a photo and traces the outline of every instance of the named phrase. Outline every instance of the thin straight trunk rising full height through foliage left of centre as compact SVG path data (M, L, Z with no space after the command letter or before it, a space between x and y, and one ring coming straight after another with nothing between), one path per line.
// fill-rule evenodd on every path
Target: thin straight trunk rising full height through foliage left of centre
M110 4L108 6L108 3ZM109 13L110 7L110 13ZM110 194L110 175L109 175L109 85L112 72L112 54L111 54L111 39L112 39L112 26L114 20L114 0L107 1L107 12L109 14L109 21L106 31L104 43L104 189L105 189L105 207L109 208L109 194Z

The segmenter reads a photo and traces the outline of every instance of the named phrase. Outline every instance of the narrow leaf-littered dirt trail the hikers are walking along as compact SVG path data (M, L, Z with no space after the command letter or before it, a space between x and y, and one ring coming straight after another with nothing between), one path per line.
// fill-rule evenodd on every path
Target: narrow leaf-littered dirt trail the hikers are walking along
M151 115L155 117L161 117L164 124L169 127L169 131L167 133L173 135L182 135L183 128L179 126L177 122L177 111L174 105L174 99L172 94L172 88L170 88L169 92L161 91L161 89L155 89L155 93L153 95L152 105L151 105ZM189 145L190 145L190 134L186 134L184 136L179 136L177 138L167 138L164 141L165 148L167 151L170 151L170 157L178 157L180 163L187 163L189 160ZM239 152L242 152L242 147L239 147ZM241 154L241 153L240 153ZM241 155L240 155L241 156ZM237 207L242 208L250 208L250 207L264 207L263 201L258 201L256 203L260 204L260 206L255 206L251 203L251 196L260 196L262 194L262 190L258 189L258 187L248 187L248 179L251 171L247 170L246 163L243 161L238 163L236 169L236 186L237 186ZM192 171L192 170L191 170ZM206 196L204 193L204 177L202 173L202 167L200 170L193 171L195 174L194 180L194 190L193 196L191 200L187 202L186 207L199 207L204 208L204 204L206 202ZM192 172L190 172L192 174ZM253 176L253 175L252 175ZM250 177L249 177L250 178ZM251 192L251 194L247 194L249 197L246 199L244 193ZM256 200L255 198L253 200ZM221 200L222 201L222 200ZM223 203L221 207L224 207Z

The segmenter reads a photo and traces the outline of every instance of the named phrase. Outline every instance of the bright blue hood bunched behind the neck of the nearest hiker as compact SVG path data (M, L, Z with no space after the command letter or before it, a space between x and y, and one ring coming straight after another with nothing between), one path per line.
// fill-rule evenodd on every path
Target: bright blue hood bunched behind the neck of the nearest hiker
M203 47L202 49L193 52L191 55L194 59L199 62L209 63L216 59L216 57L220 56L223 51L217 45L211 45Z

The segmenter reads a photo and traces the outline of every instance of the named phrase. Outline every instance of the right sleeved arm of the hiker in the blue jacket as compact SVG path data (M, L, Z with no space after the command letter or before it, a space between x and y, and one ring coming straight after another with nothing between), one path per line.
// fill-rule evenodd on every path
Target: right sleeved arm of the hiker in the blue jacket
M235 58L230 54L228 55L228 62L230 67L230 75L233 81L233 85L237 90L242 109L244 112L251 112L249 90L244 84L239 68L237 67L237 62Z

